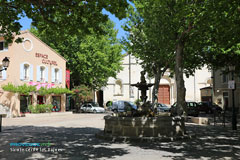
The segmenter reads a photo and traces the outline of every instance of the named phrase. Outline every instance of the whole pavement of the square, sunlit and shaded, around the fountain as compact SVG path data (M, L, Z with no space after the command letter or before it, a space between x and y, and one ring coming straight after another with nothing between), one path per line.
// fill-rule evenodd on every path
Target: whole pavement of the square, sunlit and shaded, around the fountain
M229 125L186 124L187 131L196 134L196 138L189 140L117 143L95 137L104 128L103 116L67 114L4 118L0 159L240 159L240 132L232 131ZM30 147L30 150L29 147L11 147L10 143L48 143L49 147L35 147L36 150Z

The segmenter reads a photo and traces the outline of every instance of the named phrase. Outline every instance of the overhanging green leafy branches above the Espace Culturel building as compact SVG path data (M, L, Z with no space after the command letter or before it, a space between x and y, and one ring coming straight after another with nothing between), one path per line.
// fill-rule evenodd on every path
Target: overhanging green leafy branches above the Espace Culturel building
M1 0L0 34L11 42L13 34L20 34L18 20L24 16L32 19L33 26L40 31L47 29L48 34L58 37L65 35L63 33L90 33L91 29L104 34L99 24L106 22L108 16L102 10L106 9L122 19L126 16L127 6L127 0Z

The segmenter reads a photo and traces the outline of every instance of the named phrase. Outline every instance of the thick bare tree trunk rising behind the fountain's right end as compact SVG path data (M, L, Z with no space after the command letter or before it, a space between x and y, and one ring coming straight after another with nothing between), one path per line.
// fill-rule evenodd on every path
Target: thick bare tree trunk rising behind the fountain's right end
M177 84L177 116L181 116L183 110L186 111L185 95L186 89L183 79L183 48L184 41L180 40L176 48L176 66L175 66L175 79Z

